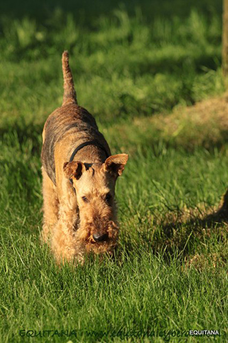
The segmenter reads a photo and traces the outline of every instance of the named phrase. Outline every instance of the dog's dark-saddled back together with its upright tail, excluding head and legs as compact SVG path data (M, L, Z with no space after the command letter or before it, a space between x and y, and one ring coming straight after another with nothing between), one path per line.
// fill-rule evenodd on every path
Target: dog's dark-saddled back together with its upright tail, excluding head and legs
M62 54L62 71L64 76L64 96L62 107L57 108L45 123L42 132L42 165L49 178L55 181L55 145L68 138L68 151L71 156L75 145L84 141L97 139L110 151L103 134L99 132L97 123L85 108L77 105L77 97L73 84L73 75L68 64L68 52Z

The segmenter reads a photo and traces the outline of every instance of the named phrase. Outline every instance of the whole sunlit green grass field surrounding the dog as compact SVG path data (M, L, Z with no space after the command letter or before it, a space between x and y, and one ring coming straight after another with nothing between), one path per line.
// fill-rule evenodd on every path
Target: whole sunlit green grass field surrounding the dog
M222 4L162 2L0 5L0 342L228 340ZM116 258L77 269L39 241L41 133L62 102L64 49L79 104L113 154L129 152Z

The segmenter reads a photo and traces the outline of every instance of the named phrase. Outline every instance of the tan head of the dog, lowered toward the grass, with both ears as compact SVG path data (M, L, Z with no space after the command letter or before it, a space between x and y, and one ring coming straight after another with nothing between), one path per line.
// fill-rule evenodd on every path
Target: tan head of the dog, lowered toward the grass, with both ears
M64 163L66 178L73 181L79 210L77 239L88 252L112 254L118 239L115 185L127 163L127 154L110 156L104 163Z

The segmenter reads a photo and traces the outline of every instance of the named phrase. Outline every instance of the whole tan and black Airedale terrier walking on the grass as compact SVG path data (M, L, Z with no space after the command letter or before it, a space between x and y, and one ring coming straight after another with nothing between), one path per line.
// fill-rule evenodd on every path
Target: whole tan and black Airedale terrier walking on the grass
M58 261L84 261L87 252L112 255L116 247L115 184L128 155L111 155L94 117L77 105L67 51L62 70L63 103L42 132L42 239Z

